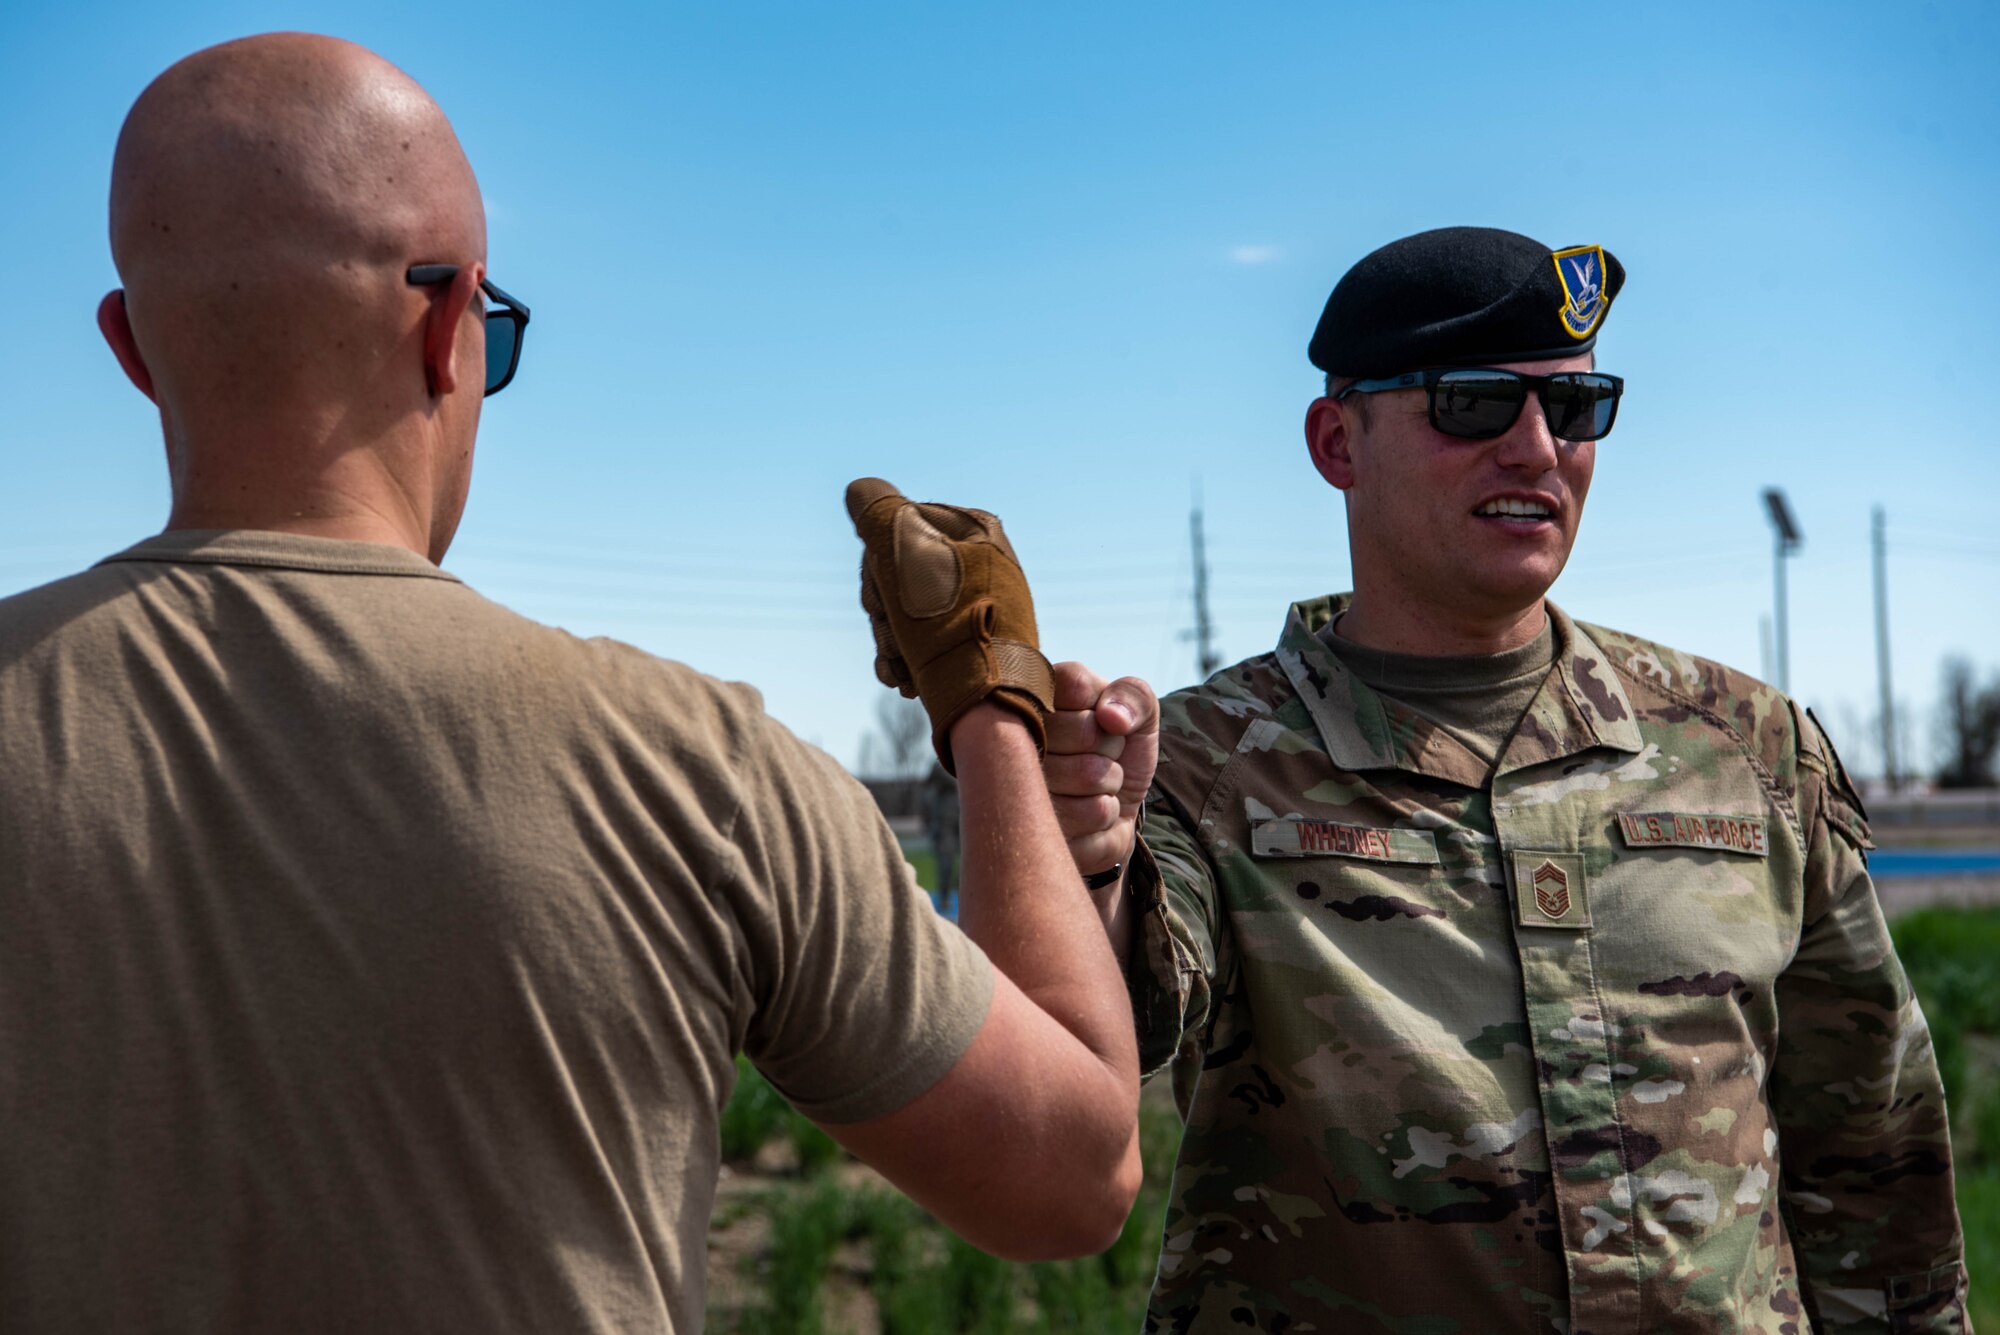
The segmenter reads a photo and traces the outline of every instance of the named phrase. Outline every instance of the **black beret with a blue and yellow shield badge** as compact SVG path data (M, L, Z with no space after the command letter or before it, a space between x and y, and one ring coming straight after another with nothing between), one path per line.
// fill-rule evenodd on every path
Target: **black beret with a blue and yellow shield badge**
M1326 298L1306 356L1332 376L1540 362L1590 352L1624 266L1602 246L1438 228L1362 258Z

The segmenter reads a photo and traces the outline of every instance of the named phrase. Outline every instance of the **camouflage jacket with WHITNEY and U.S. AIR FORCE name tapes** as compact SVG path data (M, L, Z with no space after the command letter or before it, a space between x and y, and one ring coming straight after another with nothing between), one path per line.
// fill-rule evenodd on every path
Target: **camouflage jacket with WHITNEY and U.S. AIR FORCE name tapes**
M1930 1037L1818 723L1550 608L1488 765L1342 668L1342 608L1164 701L1148 1329L1966 1329Z

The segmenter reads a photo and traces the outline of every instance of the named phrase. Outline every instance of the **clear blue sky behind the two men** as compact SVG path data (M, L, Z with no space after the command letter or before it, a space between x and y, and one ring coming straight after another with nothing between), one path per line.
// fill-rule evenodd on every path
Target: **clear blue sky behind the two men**
M850 763L848 478L996 510L1054 658L1182 685L1196 480L1220 648L1262 652L1348 580L1300 438L1320 304L1460 222L1628 270L1564 608L1760 671L1780 484L1792 687L1856 769L1872 506L1920 759L1940 658L2000 669L2000 16L1962 2L6 6L0 594L166 516L92 324L110 150L154 74L272 28L430 88L534 308L446 566Z

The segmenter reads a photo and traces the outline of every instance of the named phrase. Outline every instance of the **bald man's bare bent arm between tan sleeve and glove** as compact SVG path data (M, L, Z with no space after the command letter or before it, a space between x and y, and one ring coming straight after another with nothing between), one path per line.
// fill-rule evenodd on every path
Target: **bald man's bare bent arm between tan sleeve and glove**
M1102 1251L1140 1183L1138 1043L1124 981L1042 787L1034 739L996 705L952 727L958 921L1004 975L952 1075L850 1149L968 1241L1030 1261ZM952 1127L942 1143L910 1127Z

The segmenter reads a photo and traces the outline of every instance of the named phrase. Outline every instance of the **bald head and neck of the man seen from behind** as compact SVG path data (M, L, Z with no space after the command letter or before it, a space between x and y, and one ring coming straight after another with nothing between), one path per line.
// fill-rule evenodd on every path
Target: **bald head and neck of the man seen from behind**
M356 446L408 472L390 456L410 428L470 456L478 372L470 404L440 408L444 298L406 272L462 266L444 380L476 366L486 216L450 122L396 66L296 32L188 56L126 116L110 230L124 298L106 332L160 404L176 514L204 470L280 508Z

